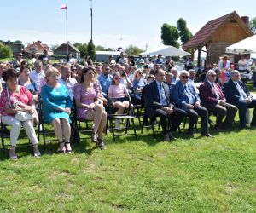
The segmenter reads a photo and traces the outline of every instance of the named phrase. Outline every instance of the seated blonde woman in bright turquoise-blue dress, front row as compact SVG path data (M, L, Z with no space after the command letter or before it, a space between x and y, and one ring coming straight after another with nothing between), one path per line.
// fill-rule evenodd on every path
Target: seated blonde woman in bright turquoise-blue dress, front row
M71 153L69 115L72 101L67 88L58 83L59 75L60 73L54 67L49 68L45 75L47 84L41 89L43 115L45 122L54 126L55 135L60 144L59 153Z

